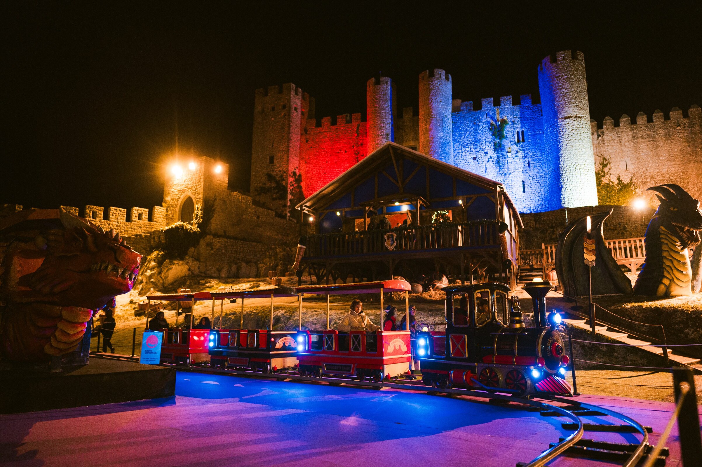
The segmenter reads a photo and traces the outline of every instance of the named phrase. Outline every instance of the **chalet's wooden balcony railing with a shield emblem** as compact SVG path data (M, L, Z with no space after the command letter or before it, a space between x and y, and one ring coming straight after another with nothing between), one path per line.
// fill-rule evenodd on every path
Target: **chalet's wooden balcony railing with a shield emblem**
M307 237L305 257L345 256L390 251L418 251L476 246L499 248L499 223L472 221L457 224L426 225L391 230L365 230L310 235ZM389 242L387 234L395 234ZM388 236L392 237L392 235Z

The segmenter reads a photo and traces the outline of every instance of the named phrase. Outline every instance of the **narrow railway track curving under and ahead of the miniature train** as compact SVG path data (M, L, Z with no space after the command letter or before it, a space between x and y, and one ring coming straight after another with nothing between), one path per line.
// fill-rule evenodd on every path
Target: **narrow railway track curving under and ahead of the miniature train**
M108 355L95 355L96 357L110 358ZM124 359L122 359L124 360ZM128 360L132 360L131 358ZM357 381L339 377L299 376L293 371L275 371L273 373L261 373L259 371L240 371L233 369L213 369L210 367L197 367L185 365L164 365L177 368L183 371L195 371L209 374L231 374L238 376L256 376L278 381L309 381L314 383L327 383L331 386L358 386L363 388L393 388L402 390L413 390L431 395L449 395L477 397L496 402L510 402L515 407L527 409L530 412L539 412L541 416L557 416L568 421L562 422L564 430L571 431L567 436L559 438L558 442L552 442L548 449L542 452L535 459L529 462L517 463L517 467L540 467L556 459L559 456L574 456L584 459L594 459L607 461L608 463L618 463L623 467L635 467L637 464L647 459L653 446L649 445L650 427L642 426L630 417L614 412L604 407L586 404L568 397L538 397L524 398L515 397L501 393L488 393L484 390L456 389L456 388L432 388L424 386L418 380L396 379L393 381ZM609 420L607 420L609 419ZM609 423L606 423L609 422ZM641 435L638 443L607 442L583 438L585 432L597 433L633 433ZM658 454L655 466L665 466L665 459L668 456L668 449L664 448Z

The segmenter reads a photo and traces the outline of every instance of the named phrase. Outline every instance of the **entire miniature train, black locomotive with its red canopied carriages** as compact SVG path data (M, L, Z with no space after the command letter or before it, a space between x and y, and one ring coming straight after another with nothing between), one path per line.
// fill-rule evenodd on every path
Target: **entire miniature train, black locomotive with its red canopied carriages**
M296 289L201 292L176 298L212 300L213 315L216 300L241 299L240 328L243 328L244 298L270 297L272 327L273 299L298 296L298 329L302 329L303 295L326 295L327 329L168 330L161 361L203 362L204 356L199 354L206 353L211 367L222 369L263 373L286 369L297 371L300 376L340 376L376 382L409 374L413 357L410 331L340 332L329 329L330 295L380 292L382 310L383 293L404 292L406 308L409 309L409 288L409 283L395 279ZM517 310L508 311L510 287L501 282L456 285L443 290L446 292L446 331L425 329L416 333L414 357L420 362L422 379L427 386L442 389L465 387L519 396L536 393L572 395L570 384L560 377L565 374L569 358L565 355L559 331L559 315L552 313L548 326L524 327L518 305ZM463 302L460 297L465 297ZM150 298L174 299L174 295ZM512 303L515 299L512 297ZM382 324L383 312L379 313L379 324ZM200 334L206 336L206 342Z

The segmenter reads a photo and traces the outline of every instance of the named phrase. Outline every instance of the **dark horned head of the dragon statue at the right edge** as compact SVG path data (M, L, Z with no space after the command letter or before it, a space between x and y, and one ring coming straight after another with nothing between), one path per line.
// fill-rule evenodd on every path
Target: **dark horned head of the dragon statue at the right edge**
M663 227L672 232L684 248L699 244L699 231L702 230L700 202L674 183L665 183L649 190L658 193L656 197L661 204L655 216L660 218Z

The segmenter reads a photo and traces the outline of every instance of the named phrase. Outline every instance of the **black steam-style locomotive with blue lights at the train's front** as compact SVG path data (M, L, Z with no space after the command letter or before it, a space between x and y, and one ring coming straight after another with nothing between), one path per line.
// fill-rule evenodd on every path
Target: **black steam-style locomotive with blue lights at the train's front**
M550 289L550 287L549 287ZM562 377L569 358L560 316L524 327L519 301L501 282L445 287L446 332L417 333L427 386L470 387L515 395L572 395ZM545 293L544 293L545 295ZM541 325L539 325L541 324Z

